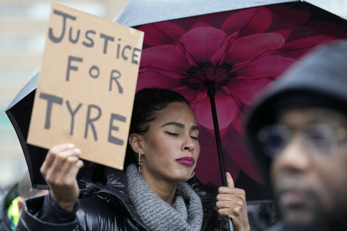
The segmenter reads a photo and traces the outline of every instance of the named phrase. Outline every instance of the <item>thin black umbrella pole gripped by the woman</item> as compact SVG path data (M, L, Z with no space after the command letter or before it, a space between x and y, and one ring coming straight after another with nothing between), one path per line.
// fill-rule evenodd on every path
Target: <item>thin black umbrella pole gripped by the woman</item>
M217 109L216 109L216 104L214 101L214 96L216 95L214 81L212 80L207 81L206 87L207 87L207 95L210 97L210 103L211 103L214 135L216 137L216 143L217 143L217 152L218 152L218 159L219 159L220 175L222 177L222 185L225 187L228 187L227 176L225 175L226 172L225 172L225 166L224 166L222 142L221 142L220 133L219 133ZM228 225L229 225L229 231L234 231L234 225L232 224L232 221L229 217L228 217Z

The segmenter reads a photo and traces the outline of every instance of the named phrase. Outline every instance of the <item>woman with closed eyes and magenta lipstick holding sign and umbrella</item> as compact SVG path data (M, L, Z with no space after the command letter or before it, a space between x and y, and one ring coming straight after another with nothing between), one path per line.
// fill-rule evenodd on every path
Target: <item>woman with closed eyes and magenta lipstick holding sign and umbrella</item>
M26 202L17 230L223 230L222 216L229 216L235 230L248 231L245 192L234 188L230 174L229 187L218 192L192 177L200 154L197 125L183 96L140 90L126 171L96 167L79 192L81 151L73 144L54 146L41 167L50 194Z

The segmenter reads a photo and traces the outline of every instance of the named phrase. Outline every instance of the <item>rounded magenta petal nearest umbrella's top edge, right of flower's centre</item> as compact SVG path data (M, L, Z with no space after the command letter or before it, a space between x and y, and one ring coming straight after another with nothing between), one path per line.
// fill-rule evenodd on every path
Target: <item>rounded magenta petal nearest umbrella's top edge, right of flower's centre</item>
M240 36L263 33L272 23L272 13L265 7L240 10L227 18L221 29L227 35L240 31Z

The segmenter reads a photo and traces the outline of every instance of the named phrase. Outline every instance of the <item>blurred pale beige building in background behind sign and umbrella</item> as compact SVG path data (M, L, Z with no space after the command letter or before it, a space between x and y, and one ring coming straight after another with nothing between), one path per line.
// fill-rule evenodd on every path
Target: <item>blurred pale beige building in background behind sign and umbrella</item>
M61 0L63 5L110 19L130 0ZM347 16L347 0L311 0ZM51 1L0 1L0 188L14 183L26 168L17 135L2 116L17 92L40 70ZM1 189L0 189L1 191Z

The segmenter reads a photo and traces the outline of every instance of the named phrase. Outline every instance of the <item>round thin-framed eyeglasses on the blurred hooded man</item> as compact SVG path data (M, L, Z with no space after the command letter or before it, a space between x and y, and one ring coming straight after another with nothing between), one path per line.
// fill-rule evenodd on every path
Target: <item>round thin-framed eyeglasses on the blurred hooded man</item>
M299 130L291 130L284 125L265 125L257 133L257 139L266 156L274 158L296 134L301 136L302 147L311 156L332 155L337 152L339 143L347 138L344 127L334 129L326 124L314 124Z

